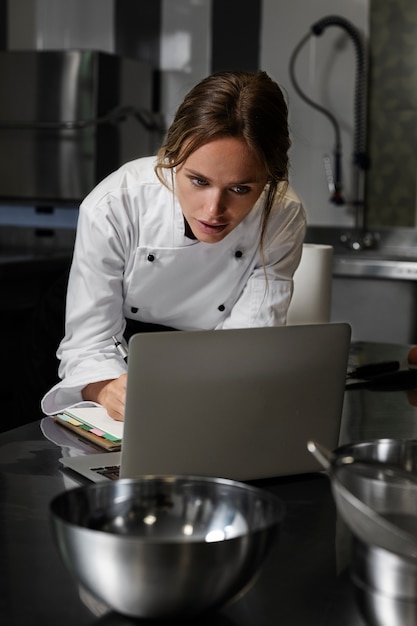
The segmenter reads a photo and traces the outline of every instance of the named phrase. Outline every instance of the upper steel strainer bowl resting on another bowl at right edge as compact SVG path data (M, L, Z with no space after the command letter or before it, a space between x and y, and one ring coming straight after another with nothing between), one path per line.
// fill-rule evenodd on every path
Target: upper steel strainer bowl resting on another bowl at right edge
M333 457L333 495L353 534L417 563L417 442L361 442L338 448ZM347 463L349 457L358 463Z

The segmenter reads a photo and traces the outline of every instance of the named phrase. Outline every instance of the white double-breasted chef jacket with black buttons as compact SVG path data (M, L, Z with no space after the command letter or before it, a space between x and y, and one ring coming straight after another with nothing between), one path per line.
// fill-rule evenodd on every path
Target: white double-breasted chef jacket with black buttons
M190 239L155 157L123 165L80 206L70 271L61 381L43 398L46 414L82 401L91 382L117 378L126 364L112 335L126 318L179 330L286 323L300 261L305 212L289 189L259 249L264 192L246 218L214 244Z

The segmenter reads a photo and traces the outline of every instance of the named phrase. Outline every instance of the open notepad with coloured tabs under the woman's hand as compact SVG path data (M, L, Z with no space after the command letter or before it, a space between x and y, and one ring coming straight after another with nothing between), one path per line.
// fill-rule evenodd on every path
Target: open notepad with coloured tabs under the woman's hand
M80 437L106 450L119 450L123 422L113 420L104 407L73 407L54 416L55 420Z

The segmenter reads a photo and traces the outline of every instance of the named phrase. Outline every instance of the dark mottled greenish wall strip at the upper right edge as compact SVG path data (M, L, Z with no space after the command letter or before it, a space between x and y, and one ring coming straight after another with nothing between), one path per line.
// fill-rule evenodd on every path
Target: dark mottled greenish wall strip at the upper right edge
M417 2L372 0L367 213L373 226L415 226Z

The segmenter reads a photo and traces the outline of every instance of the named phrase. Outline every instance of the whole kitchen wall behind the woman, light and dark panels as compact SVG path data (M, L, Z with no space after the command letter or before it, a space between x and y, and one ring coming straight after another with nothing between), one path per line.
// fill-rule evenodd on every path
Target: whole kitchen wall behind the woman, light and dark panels
M330 122L305 104L289 75L295 46L312 24L329 15L351 21L370 55L367 138L371 168L366 185L363 177L360 181L368 223L413 227L417 204L415 0L0 0L0 48L87 47L150 54L160 70L156 100L168 119L184 93L211 70L219 69L225 57L229 65L240 62L247 69L266 69L288 94L291 181L305 202L309 222L344 227L354 225L356 217L351 204L355 200L356 61L352 41L342 29L329 27L322 36L310 38L296 64L304 92L328 108L340 124L347 200L342 206L330 202L323 162L326 155L332 157L334 148Z

